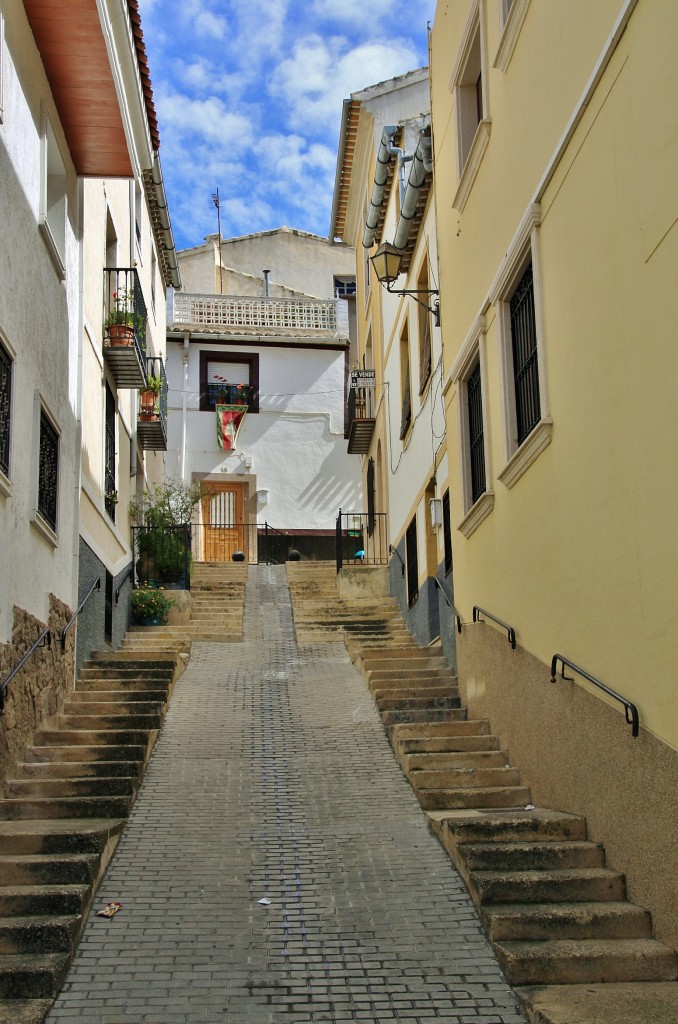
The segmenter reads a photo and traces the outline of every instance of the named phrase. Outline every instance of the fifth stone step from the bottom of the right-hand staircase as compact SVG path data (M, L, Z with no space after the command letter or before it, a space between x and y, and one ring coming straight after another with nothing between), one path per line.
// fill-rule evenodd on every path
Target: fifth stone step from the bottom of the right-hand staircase
M467 843L462 855L470 871L558 870L563 867L604 867L599 843Z

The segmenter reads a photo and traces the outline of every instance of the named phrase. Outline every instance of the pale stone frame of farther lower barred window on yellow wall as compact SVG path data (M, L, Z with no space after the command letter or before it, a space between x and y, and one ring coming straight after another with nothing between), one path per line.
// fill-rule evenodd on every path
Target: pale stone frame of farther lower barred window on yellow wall
M459 454L461 466L461 500L462 519L457 529L465 538L474 534L483 519L495 507L495 492L492 487L492 460L490 444L490 416L488 404L488 360L485 355L485 317L477 317L469 331L464 344L459 350L452 370L449 384L457 384L457 415L459 424ZM482 449L485 466L485 489L475 501L472 501L471 487L471 453L468 430L468 392L467 381L476 362L480 364L480 395L482 399Z

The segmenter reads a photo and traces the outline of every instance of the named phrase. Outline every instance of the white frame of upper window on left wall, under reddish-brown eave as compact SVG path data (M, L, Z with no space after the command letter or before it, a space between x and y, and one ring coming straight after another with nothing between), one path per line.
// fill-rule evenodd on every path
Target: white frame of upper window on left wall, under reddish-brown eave
M51 119L43 108L40 135L39 227L54 269L66 278L69 175Z

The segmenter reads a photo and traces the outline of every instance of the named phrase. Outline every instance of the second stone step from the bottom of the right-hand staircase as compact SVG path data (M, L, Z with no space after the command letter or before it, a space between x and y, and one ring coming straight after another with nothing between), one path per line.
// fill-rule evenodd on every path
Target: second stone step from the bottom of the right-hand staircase
M495 948L512 985L674 981L678 974L675 951L654 939L498 942Z

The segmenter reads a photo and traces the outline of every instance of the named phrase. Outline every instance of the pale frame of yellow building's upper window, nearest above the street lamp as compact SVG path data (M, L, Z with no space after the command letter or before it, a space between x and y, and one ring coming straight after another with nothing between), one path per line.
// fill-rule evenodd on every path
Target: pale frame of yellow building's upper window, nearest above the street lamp
M479 44L479 65L480 84L482 92L482 118L477 122L475 134L472 141L468 142L468 119L466 112L469 105L469 97L465 90L468 83L465 82L467 70L473 48L478 39ZM490 143L492 129L492 118L490 117L490 89L489 89L490 69L488 66L488 45L485 30L484 0L474 0L466 19L466 26L462 35L462 41L457 53L452 75L450 76L450 91L455 97L455 120L457 124L457 171L459 183L453 199L453 208L462 213L468 200L473 182L477 176L482 157Z

